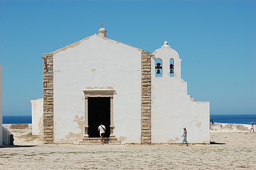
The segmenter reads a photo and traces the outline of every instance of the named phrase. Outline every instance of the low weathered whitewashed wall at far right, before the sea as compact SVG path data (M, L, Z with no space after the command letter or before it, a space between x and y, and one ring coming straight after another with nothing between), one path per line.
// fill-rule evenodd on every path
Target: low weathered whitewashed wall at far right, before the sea
M250 131L251 125L214 123L214 124L212 125L212 129L213 129L213 130Z

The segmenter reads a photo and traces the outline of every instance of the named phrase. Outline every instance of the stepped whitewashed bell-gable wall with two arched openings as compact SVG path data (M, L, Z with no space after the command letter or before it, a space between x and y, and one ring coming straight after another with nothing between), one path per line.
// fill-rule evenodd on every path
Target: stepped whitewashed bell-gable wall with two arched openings
M181 59L168 45L156 50L152 58L152 143L182 142L183 127L190 143L209 143L209 102L195 102L187 95L181 79ZM155 60L162 59L163 76L155 77ZM169 76L170 58L175 76ZM198 82L200 83L200 82Z

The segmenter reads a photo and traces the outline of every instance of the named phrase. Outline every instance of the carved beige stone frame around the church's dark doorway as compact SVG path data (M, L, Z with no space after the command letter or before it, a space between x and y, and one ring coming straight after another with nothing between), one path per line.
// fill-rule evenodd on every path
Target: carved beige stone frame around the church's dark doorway
M88 97L110 97L110 138L115 138L114 134L114 92L115 90L94 89L83 90L85 94L85 126L83 133L83 141L89 140L88 135Z

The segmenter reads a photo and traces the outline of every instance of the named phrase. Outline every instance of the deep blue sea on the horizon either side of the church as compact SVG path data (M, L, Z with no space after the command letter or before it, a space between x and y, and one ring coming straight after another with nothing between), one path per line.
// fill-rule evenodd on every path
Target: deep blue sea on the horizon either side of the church
M224 124L256 124L256 114L211 114L213 122ZM3 116L3 124L31 124L32 116Z

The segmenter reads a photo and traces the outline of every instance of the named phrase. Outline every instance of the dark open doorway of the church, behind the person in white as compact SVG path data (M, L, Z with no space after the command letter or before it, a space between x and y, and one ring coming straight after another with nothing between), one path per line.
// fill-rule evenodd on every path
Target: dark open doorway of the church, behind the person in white
M110 97L88 98L88 135L99 138L100 122L106 127L104 138L110 137Z

